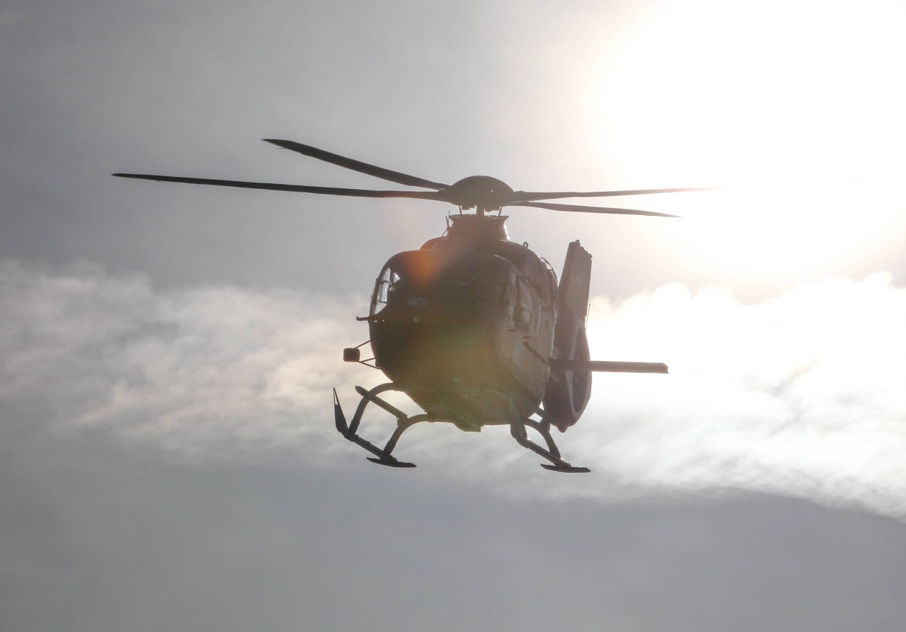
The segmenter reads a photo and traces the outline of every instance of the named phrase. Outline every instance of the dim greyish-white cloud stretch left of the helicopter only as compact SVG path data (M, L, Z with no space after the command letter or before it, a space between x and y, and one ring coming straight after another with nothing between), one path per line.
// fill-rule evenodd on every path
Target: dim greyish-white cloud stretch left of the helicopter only
M192 459L331 449L332 425L321 422L348 372L331 360L363 337L351 298L156 292L147 277L87 263L53 273L6 262L0 287L0 397L33 424L110 432Z

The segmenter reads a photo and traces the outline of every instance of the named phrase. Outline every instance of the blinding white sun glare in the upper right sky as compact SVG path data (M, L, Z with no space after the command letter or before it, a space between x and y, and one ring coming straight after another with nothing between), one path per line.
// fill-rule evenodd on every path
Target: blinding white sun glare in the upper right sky
M728 265L871 249L902 230L904 32L904 6L872 0L662 5L592 87L602 158L642 187L737 185L641 206Z

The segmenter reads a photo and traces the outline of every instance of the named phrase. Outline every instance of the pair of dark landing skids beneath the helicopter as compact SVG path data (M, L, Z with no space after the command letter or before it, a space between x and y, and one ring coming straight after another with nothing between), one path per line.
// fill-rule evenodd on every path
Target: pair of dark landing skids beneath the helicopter
M336 423L337 430L340 434L345 437L347 440L352 441L356 445L361 445L374 456L369 456L368 460L371 463L376 463L380 465L387 465L389 467L415 467L414 463L408 463L405 461L398 460L391 453L393 448L396 447L397 441L400 440L400 436L408 430L410 427L415 426L422 421L436 422L440 421L439 419L430 417L427 414L420 414L414 417L409 417L403 413L399 408L394 407L392 404L386 400L379 397L381 393L385 393L389 390L400 390L392 382L386 384L381 384L380 386L371 388L371 390L366 390L365 388L356 387L356 392L361 395L361 400L359 401L359 406L355 409L355 414L352 416L352 420L348 423L346 421L346 416L343 414L342 407L340 406L340 398L337 397L336 388L333 389L333 417L334 422ZM359 429L359 424L361 422L361 417L365 414L365 408L369 404L374 403L376 406L381 407L386 410L390 415L396 417L397 427L393 431L393 434L390 435L387 444L383 448L378 447L368 441L363 439L357 434ZM545 459L550 461L550 464L541 464L545 470L551 470L552 472L591 472L587 467L575 467L566 461L560 456L560 450L557 449L556 444L554 443L554 437L551 436L551 423L545 419L545 413L543 410L533 407L526 406L525 402L520 402L523 407L528 407L532 409L537 415L542 417L541 421L535 421L534 419L528 419L522 417L519 414L518 407L516 407L516 396L510 395L510 410L511 410L511 419L510 422L510 434L513 438L516 439L516 442L519 445L522 445L525 448L528 448L536 455L544 456ZM535 429L541 436L545 439L545 444L547 447L542 447L537 445L534 441L528 438L528 433L526 432L526 427L531 427Z

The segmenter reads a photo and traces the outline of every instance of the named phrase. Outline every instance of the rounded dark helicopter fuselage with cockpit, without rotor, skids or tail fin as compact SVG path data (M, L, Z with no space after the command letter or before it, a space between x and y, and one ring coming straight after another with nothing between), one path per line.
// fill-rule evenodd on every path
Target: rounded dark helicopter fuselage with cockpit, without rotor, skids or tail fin
M375 365L432 417L509 424L514 406L528 417L545 395L556 275L506 239L505 217L451 219L448 235L381 270L367 318Z

